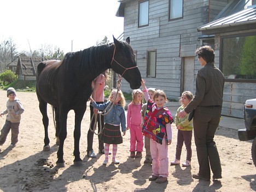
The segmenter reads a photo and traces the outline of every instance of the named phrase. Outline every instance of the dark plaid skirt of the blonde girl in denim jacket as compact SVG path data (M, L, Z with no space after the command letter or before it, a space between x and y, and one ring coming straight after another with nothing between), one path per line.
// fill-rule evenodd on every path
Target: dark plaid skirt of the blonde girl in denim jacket
M120 144L123 143L120 126L114 126L105 123L104 129L101 132L100 140L107 144Z

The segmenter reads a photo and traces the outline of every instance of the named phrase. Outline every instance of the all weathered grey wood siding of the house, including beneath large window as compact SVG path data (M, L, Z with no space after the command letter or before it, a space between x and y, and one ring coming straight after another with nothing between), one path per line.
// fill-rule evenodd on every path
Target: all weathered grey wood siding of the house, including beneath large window
M238 1L238 0L235 0ZM129 1L124 10L124 36L130 37L132 48L137 51L137 65L148 87L162 89L167 98L178 101L181 92L182 57L195 56L201 32L197 27L214 20L230 0L184 0L183 18L168 20L169 0L149 1L149 25L138 27L138 1ZM210 5L209 5L210 3ZM219 36L215 39L216 66L219 67ZM156 50L156 77L146 77L147 50ZM194 73L201 68L195 57ZM196 79L196 78L194 78ZM195 82L194 82L195 86ZM123 80L121 90L131 92L129 83ZM252 91L254 90L254 91ZM246 95L247 94L247 95ZM243 104L255 98L255 84L225 83L223 115L243 117Z

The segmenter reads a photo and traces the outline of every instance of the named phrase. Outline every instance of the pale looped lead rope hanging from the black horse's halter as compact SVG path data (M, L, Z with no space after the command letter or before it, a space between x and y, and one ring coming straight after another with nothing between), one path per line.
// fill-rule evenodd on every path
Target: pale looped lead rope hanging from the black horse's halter
M118 83L117 92L116 92L115 96L113 97L113 100L110 101L109 105L106 107L106 109L104 109L102 112L98 111L97 113L92 114L91 121L92 121L92 119L94 119L94 125L93 125L93 127L92 127L92 129L91 129L91 122L90 122L90 131L91 131L91 132L94 132L95 135L100 135L101 132L102 132L102 130L103 130L103 129L102 129L102 125L101 125L101 115L103 115L103 116L107 115L107 114L110 112L110 110L113 108L113 106L114 106L113 103L114 103L115 99L117 98L118 92L119 92L119 90L120 90L120 88L121 88L121 78L120 78L120 77L119 77L119 80L118 80L117 83ZM109 106L111 106L111 107L110 107L110 109L107 111L107 109L109 108ZM106 111L107 111L107 112L106 112ZM106 112L106 113L105 113L105 112ZM98 131L98 133L96 133L95 130L97 129L97 118L98 118L98 115L100 115L100 117L99 117L99 119L100 119L100 131Z

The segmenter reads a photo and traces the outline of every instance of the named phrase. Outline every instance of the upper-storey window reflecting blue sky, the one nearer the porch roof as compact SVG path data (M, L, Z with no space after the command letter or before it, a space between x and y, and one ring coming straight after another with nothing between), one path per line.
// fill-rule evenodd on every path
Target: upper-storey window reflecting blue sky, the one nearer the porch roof
M183 0L170 0L169 20L183 17Z

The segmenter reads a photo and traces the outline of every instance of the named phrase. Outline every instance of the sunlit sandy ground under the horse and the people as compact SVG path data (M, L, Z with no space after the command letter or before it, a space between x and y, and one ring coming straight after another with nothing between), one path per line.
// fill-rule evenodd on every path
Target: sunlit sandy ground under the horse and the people
M102 165L104 155L97 154L97 136L94 137L94 150L97 158L86 156L86 135L89 129L89 110L82 121L80 139L80 156L84 165L73 166L73 130L74 113L68 114L68 136L64 146L66 167L57 168L57 149L51 107L49 111L50 152L42 152L44 130L42 115L39 112L36 93L17 92L24 105L21 117L19 142L12 148L10 133L7 141L0 147L0 191L255 191L256 169L251 159L252 142L241 142L237 131L219 127L216 133L220 159L222 161L223 179L219 181L198 181L191 177L197 173L198 164L193 140L193 157L190 167L170 166L168 182L158 184L148 181L152 173L151 166L143 164L142 158L129 158L130 134L124 136L124 143L118 146L117 159L120 165ZM0 110L5 109L6 91L0 91ZM89 109L89 108L88 108ZM5 116L0 118L0 127ZM174 159L177 129L173 127L173 140L168 148L169 161ZM111 158L111 156L110 156ZM185 160L185 149L182 161Z

